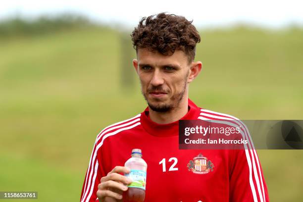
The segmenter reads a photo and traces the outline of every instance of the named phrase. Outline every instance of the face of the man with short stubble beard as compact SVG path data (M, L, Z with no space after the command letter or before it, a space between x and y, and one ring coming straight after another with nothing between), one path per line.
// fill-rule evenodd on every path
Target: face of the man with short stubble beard
M183 99L187 99L193 63L189 64L182 50L176 50L172 55L162 55L139 49L137 57L133 64L140 78L142 94L152 110L171 111Z

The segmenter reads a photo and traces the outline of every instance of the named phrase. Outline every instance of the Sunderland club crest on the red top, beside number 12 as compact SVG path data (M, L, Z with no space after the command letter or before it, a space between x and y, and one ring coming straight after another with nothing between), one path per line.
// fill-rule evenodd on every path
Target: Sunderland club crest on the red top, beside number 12
M187 164L187 169L196 174L206 174L213 171L214 165L201 153Z

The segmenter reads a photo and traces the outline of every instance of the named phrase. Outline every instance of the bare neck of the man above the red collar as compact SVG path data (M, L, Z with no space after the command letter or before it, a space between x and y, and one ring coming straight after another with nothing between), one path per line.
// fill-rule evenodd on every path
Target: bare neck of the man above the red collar
M176 108L173 108L168 112L157 112L153 111L149 107L150 118L153 122L159 124L167 124L171 122L175 122L181 119L188 112L188 96L184 96L184 98L180 101L179 105Z

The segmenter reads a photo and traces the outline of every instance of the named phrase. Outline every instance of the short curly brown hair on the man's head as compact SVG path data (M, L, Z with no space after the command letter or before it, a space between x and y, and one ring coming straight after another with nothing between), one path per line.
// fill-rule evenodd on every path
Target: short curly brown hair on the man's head
M182 50L189 57L189 62L195 59L196 44L201 41L199 32L183 16L159 13L143 17L132 32L134 49L147 48L163 55L172 55L175 50Z

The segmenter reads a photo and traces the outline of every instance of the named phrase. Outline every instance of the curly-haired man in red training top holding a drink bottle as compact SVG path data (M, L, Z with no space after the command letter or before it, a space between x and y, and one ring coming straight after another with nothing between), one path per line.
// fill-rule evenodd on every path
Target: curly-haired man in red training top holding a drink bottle
M267 202L260 162L250 150L179 150L178 120L238 119L198 107L189 84L202 69L194 61L200 36L182 16L143 18L132 33L133 65L148 107L137 116L104 128L97 136L81 202L121 202L132 149L148 164L145 202ZM193 159L208 159L208 171L193 172ZM206 162L206 161L205 161Z

